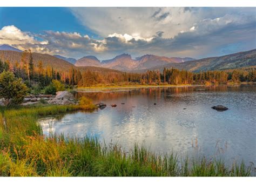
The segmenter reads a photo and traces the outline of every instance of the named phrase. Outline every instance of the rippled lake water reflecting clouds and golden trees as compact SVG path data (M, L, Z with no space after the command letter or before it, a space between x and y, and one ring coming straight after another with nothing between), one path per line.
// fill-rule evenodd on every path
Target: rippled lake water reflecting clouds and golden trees
M40 120L44 134L96 136L129 151L137 142L162 154L221 157L256 164L256 86L133 88L77 92L107 107ZM122 104L124 103L124 104ZM156 103L156 105L154 105ZM111 107L117 104L117 107ZM211 107L224 105L218 112Z

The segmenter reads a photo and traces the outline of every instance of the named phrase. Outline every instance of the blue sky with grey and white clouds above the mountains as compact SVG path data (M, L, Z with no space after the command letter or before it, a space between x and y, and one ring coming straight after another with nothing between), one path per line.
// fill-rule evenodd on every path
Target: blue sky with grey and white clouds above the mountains
M256 48L256 8L0 8L0 44L76 59L223 56Z

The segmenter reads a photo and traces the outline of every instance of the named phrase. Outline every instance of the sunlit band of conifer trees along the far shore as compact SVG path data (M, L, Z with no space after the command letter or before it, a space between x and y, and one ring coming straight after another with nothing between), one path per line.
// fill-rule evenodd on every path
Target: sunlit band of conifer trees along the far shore
M21 61L10 64L8 60L4 62L0 60L0 73L3 71L11 71L15 77L21 78L24 83L31 87L39 85L41 87L49 86L52 80L61 81L66 86L95 86L95 85L134 85L134 84L150 84L150 85L180 85L180 84L226 84L228 81L256 81L256 71L251 68L249 70L233 70L227 71L206 71L200 73L192 73L186 70L178 70L175 68L147 71L144 73L130 72L108 72L100 73L91 70L80 71L71 68L69 72L53 70L53 67L43 67L43 62L39 61L37 65L33 62L31 51L22 53Z

